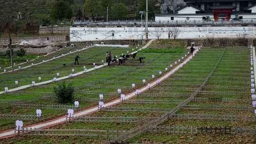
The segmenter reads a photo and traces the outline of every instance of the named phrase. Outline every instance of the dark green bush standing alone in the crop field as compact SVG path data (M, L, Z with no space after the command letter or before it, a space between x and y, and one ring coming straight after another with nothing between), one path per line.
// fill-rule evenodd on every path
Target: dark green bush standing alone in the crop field
M65 81L60 83L58 87L54 87L54 93L61 103L73 102L74 87L71 84L66 85Z

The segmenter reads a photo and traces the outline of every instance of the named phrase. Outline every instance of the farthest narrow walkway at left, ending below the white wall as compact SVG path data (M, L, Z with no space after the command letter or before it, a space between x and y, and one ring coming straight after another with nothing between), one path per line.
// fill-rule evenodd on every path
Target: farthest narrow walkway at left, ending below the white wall
M32 67L32 66L35 66L35 65L38 65L38 64L42 64L42 63L46 63L46 62L49 62L49 61L52 61L52 60L61 58L61 57L63 57L63 56L69 55L69 54L73 54L73 53L76 53L76 52L80 52L80 51L83 51L83 50L87 50L87 49L89 49L89 48L91 48L91 47L94 47L94 46L84 47L84 48L82 48L82 49L78 49L77 51L74 51L74 52L71 52L71 53L67 53L67 54L62 54L62 55L57 56L57 57L55 57L55 58L48 59L48 60L42 61L42 62L40 62L40 63L35 63L35 64L33 64L33 65L28 65L28 66L22 67L22 68L20 68L20 69L15 69L15 70L13 70L13 71L18 71L18 70L22 70L22 69L27 69L27 68L30 68L30 67ZM46 54L46 55L47 55L47 54ZM46 56L46 55L45 55L45 56ZM34 59L34 60L35 60L35 59ZM31 60L31 61L34 61L34 60ZM31 62L31 61L30 61L30 62ZM25 63L27 63L27 62L25 62ZM20 65L20 64L21 64L21 63L19 63L19 65ZM23 64L23 63L22 63L22 64ZM12 71L8 71L8 72L12 72ZM0 74L3 74L3 73L7 73L7 72L1 72Z

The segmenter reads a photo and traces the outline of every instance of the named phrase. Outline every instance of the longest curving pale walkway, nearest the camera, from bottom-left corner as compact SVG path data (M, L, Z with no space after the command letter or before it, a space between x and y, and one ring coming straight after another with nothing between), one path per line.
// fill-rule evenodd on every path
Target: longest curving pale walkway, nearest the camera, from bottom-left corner
M152 41L151 41L152 42ZM150 43L151 43L150 42ZM150 45L150 44L149 44ZM147 47L148 45L145 45L145 47ZM197 54L199 51L199 49L196 49L194 54ZM192 60L192 56L187 56L187 58L183 61L183 63L180 63L178 64L175 68L173 68L171 71L165 73L162 77L156 79L155 81L151 82L150 85L151 85L151 88L152 87L155 87L157 84L157 81L159 83L161 83L162 81L165 80L165 78L171 76L174 72L178 71L180 68L183 67L183 65L185 65L186 63L188 63L190 60ZM138 89L140 92L139 93L142 93L142 92L145 92L146 90L148 90L148 87L147 86L144 86L140 89ZM137 90L134 90L132 91L131 93L128 93L125 95L125 99L132 99L134 97L137 96ZM104 107L111 107L111 106L114 106L114 105L117 105L121 102L120 99L114 99L110 102L107 102ZM84 109L80 112L77 112L75 113L73 116L74 117L80 117L80 116L85 116L85 115L90 115L92 113L95 113L99 111L98 109L98 106L94 106L94 107L91 107L91 108L87 108L87 109ZM49 121L46 121L46 122L43 122L43 123L38 123L38 124L35 124L35 125L31 125L31 126L24 126L24 128L32 128L32 129L35 129L35 128L47 128L47 127L52 127L52 126L55 126L55 125L59 125L59 124L62 124L64 122L66 122L66 116L62 116L62 117L58 117L58 118L55 118L54 120L49 120ZM13 137L15 135L14 133L14 129L10 129L10 130L6 130L6 131L3 131L3 132L0 132L0 139L3 139L3 138L8 138L8 137Z

